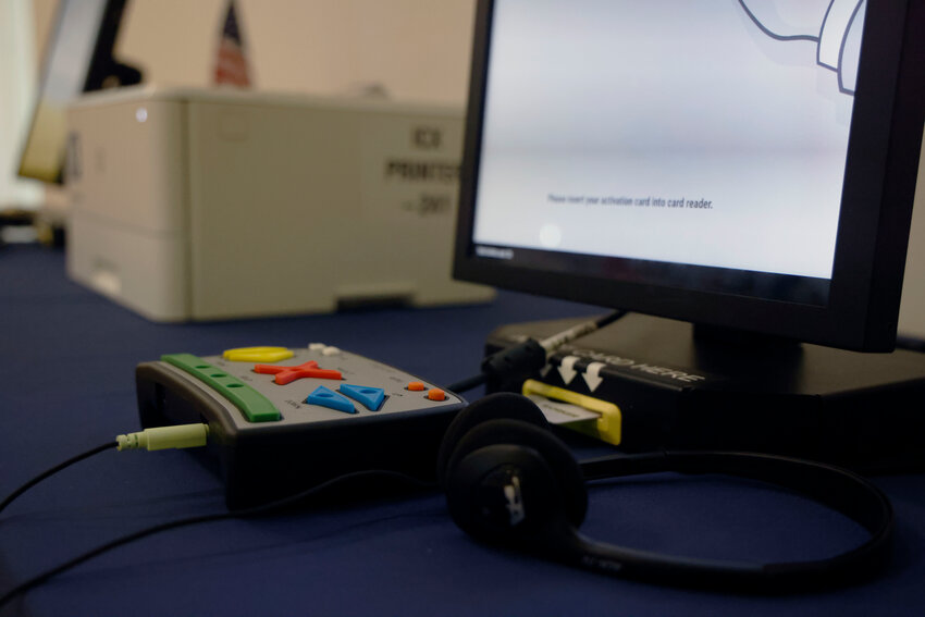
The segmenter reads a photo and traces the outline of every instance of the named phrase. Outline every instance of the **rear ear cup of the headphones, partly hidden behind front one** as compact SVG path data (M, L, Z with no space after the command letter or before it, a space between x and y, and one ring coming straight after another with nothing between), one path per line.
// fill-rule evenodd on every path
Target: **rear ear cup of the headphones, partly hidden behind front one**
M443 434L443 442L436 456L436 479L441 484L446 476L449 457L462 435L477 424L503 418L520 420L543 429L548 429L550 425L536 404L526 396L499 392L480 398L460 411Z

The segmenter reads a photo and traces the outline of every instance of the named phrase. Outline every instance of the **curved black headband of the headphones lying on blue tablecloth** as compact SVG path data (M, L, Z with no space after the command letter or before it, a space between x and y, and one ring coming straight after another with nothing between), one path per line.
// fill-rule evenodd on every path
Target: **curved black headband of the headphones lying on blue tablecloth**
M595 542L577 532L559 557L584 568L619 570L626 577L657 577L671 584L731 587L742 591L792 592L841 585L873 575L888 560L893 531L889 499L868 480L839 467L768 454L664 452L618 455L579 464L585 480L644 473L720 473L789 489L854 520L871 534L860 546L826 559L749 564L679 558Z

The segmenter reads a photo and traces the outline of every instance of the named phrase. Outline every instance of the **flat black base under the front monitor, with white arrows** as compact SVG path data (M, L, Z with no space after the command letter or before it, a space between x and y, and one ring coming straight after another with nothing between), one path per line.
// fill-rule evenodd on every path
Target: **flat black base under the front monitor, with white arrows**
M486 353L580 321L504 325ZM614 403L628 452L739 449L865 471L925 467L925 354L861 354L630 313L557 350L541 373L488 388L519 392L532 378Z

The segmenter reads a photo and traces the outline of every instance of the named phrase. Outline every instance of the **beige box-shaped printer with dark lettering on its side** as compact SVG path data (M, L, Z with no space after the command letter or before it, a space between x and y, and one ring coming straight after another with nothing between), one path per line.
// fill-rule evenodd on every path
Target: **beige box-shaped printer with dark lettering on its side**
M478 303L451 280L462 111L128 88L67 112L70 275L157 321Z

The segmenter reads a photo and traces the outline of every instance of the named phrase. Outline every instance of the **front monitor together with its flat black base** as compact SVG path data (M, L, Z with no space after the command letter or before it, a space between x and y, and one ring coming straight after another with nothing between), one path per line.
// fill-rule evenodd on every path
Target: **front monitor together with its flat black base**
M855 351L896 342L923 28L915 0L480 1L455 276L645 313L491 388L612 400L630 449L921 459L922 357Z

